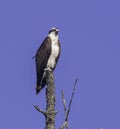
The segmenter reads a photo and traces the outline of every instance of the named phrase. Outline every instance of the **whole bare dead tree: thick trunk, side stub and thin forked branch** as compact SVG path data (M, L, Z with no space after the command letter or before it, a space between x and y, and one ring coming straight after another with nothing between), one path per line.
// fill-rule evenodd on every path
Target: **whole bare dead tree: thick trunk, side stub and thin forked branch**
M35 105L35 109L42 113L45 116L46 120L46 126L45 129L55 129L55 116L58 111L55 110L55 103L56 103L56 96L55 96L55 85L54 85L54 74L53 71L50 69L46 70L46 83L47 83L47 88L46 88L46 111L43 111L40 109L37 105ZM68 109L66 107L66 102L64 98L64 92L62 91L62 101L63 101L63 106L64 106L64 111L65 111L65 121L60 127L60 129L68 129L68 116L72 104L72 99L74 96L75 88L77 84L77 79L75 81L75 85L73 88L72 96L69 102Z

